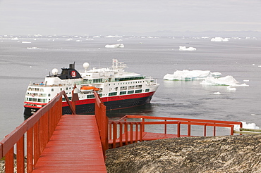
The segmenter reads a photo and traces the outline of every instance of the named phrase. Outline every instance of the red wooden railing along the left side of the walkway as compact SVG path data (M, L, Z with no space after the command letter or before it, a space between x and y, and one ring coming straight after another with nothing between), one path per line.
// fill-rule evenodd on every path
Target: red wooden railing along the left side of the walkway
M25 172L25 155L27 172L32 172L61 118L62 96L66 98L72 113L75 114L75 108L68 100L65 91L61 91L51 102L0 141L0 159L3 157L5 159L6 173L14 172L14 153L16 153L17 172Z

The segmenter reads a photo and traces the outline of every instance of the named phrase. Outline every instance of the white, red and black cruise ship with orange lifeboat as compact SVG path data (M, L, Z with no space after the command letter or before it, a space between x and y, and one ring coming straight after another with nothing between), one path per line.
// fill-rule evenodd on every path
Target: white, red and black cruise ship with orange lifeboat
M83 71L75 70L75 63L69 68L54 68L44 82L31 83L25 94L24 115L30 117L37 110L47 105L60 91L66 91L71 101L73 91L78 93L75 101L77 114L93 113L95 111L95 96L97 92L106 105L107 110L132 108L150 103L159 84L157 79L145 77L135 72L126 72L125 63L113 59L111 68L92 68L89 63L83 64ZM76 87L76 88L75 88ZM63 98L63 114L71 110Z

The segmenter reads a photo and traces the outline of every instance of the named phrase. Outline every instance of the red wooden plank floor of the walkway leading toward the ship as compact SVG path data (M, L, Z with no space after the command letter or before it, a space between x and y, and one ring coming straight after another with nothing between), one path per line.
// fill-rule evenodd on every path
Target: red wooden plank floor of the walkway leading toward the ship
M63 115L33 172L107 172L95 115Z

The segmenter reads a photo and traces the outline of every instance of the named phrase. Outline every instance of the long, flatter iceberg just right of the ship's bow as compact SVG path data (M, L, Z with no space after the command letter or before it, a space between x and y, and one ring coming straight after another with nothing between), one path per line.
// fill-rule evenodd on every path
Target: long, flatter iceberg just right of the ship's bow
M164 80L198 80L205 79L206 77L220 77L220 72L210 72L210 70L176 70L174 74L166 74Z

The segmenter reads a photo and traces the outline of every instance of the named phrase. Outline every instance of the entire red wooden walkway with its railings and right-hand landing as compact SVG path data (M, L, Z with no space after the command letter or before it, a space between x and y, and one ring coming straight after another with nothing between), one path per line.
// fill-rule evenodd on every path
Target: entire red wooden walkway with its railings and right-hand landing
M229 129L229 134L233 135L234 125L242 127L241 122L142 115L126 115L120 120L108 120L105 105L98 94L94 94L95 115L76 115L74 104L61 91L48 105L0 141L0 158L5 159L5 172L14 172L15 169L28 173L107 172L104 160L105 151L109 148L193 136L193 126L202 127L202 136L207 136L209 131L212 136L216 136L217 128ZM72 115L62 115L62 97L66 98ZM162 130L147 130L147 127L155 125Z

